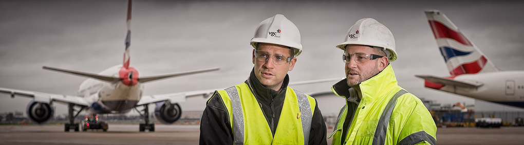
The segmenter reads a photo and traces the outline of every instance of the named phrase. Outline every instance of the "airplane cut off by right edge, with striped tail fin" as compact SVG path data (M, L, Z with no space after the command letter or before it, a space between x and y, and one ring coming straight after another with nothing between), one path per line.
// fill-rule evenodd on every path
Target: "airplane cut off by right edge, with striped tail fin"
M523 70L499 70L444 13L424 13L451 75L415 75L424 87L524 108Z

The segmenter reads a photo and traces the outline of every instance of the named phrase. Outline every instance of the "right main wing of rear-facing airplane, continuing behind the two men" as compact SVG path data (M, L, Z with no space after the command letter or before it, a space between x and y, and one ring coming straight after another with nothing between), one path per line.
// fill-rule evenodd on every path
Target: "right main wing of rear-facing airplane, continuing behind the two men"
M338 81L341 80L340 78L331 78L331 79L319 79L319 80L308 80L308 81L298 81L298 82L290 82L289 85L304 85L304 84L313 84L313 83L320 83L320 82L328 82L328 81ZM148 103L155 103L160 101L166 101L169 100L170 102L183 102L188 97L204 97L208 98L215 90L222 90L224 88L220 89L208 89L208 90L197 90L197 91L186 91L186 92L177 92L172 94L161 94L161 95L147 95L142 96L140 101L138 101L136 106L146 105Z

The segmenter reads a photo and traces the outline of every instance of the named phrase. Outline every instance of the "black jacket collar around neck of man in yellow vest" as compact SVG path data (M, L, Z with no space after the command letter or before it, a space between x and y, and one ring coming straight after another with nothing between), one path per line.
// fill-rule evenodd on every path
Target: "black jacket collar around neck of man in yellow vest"
M257 96L260 96L263 99L270 99L277 97L279 94L282 94L282 92L285 92L289 84L289 75L286 74L286 77L282 82L282 86L280 87L280 91L266 88L260 84L260 81L258 81L257 77L255 76L255 68L251 70L249 78L246 80L246 82L250 87L252 87L254 94L257 94Z

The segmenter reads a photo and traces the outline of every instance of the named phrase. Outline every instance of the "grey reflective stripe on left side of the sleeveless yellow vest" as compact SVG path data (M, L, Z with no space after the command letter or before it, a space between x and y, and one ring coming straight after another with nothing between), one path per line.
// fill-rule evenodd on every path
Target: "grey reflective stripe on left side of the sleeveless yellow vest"
M231 110L233 112L233 136L235 140L233 144L244 144L244 113L242 112L242 105L240 103L240 96L236 87L225 89L227 95L231 99Z

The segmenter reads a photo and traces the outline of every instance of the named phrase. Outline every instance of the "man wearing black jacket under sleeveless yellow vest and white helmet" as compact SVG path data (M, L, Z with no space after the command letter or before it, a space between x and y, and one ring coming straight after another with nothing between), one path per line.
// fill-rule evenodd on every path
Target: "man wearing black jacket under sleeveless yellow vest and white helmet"
M200 124L200 144L327 144L316 100L288 87L300 33L277 14L251 39L253 64L242 84L215 91Z

